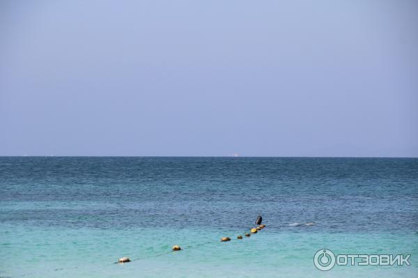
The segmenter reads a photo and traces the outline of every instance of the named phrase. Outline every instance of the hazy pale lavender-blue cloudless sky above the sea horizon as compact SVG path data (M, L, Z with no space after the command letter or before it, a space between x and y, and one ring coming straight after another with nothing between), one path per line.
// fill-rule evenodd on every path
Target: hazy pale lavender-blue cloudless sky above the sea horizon
M418 156L418 1L1 1L0 155Z

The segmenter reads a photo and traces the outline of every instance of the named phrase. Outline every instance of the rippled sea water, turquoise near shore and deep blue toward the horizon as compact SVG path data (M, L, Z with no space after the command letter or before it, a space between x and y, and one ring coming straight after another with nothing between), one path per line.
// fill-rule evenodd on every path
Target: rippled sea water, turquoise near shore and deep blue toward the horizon
M411 265L323 272L323 248ZM0 258L0 277L418 277L418 159L1 157Z

